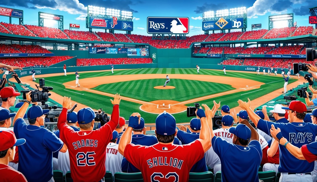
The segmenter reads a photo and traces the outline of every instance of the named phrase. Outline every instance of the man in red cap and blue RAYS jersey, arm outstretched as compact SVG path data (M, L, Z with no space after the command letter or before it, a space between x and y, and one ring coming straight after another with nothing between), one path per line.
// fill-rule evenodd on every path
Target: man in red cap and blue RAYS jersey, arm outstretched
M249 100L249 99L248 99ZM303 119L306 115L306 105L299 100L293 100L288 107L282 109L288 110L289 123L275 123L265 121L256 115L252 109L251 101L238 101L239 106L249 114L249 118L256 125L256 127L266 134L270 134L271 125L275 128L280 128L282 135L294 146L300 148L301 146L315 141L317 135L317 125L311 123L304 123ZM314 170L314 163L296 159L291 155L285 146L280 145L280 166L278 171L281 173L281 181L284 182L287 178L293 178L293 181L301 181L306 178L308 181L312 180L311 172Z

